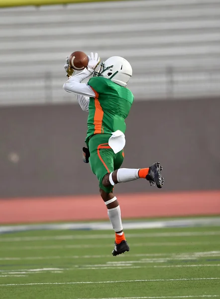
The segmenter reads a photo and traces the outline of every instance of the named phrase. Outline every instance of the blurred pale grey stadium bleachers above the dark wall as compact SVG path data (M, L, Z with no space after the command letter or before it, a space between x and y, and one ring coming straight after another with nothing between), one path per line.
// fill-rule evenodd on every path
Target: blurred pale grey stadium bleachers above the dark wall
M75 50L129 60L137 100L220 94L219 0L4 8L0 27L0 105L75 102L62 89Z

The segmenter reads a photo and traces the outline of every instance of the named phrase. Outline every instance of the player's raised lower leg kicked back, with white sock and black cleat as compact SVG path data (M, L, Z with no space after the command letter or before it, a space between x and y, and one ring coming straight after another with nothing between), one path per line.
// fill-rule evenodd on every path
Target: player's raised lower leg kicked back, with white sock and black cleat
M159 162L147 168L120 168L106 174L103 178L104 186L114 186L117 183L129 182L138 178L145 178L150 185L156 183L158 188L164 185L164 178L161 175L162 166Z

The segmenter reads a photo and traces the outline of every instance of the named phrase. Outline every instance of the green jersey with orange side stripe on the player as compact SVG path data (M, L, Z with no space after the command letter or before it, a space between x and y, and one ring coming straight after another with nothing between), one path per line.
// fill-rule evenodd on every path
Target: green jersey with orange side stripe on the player
M117 130L125 133L125 119L134 99L132 92L103 77L91 78L88 85L96 96L90 98L86 143L95 134L111 134Z

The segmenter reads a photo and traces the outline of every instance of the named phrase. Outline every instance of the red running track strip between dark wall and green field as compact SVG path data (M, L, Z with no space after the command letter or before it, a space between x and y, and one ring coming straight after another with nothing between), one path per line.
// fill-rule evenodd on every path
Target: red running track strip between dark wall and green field
M220 190L120 194L122 218L220 215ZM99 195L0 199L0 223L108 219Z

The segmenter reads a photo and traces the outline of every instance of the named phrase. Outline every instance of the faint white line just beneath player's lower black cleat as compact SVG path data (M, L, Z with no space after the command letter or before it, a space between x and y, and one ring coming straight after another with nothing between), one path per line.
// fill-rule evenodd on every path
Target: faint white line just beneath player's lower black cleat
M47 257L5 257L0 258L0 261L23 261L23 260L48 260L48 259L91 259L91 258L108 258L111 255L84 255L84 256L47 256ZM130 254L129 257L147 257L147 256L169 256L165 259L196 259L198 257L219 257L220 251L207 251L207 252L194 252L194 253L182 253L181 255L173 254ZM164 259L164 260L165 260ZM147 260L147 259L146 259ZM159 260L159 259L149 259L149 260ZM162 259L160 259L162 260Z

